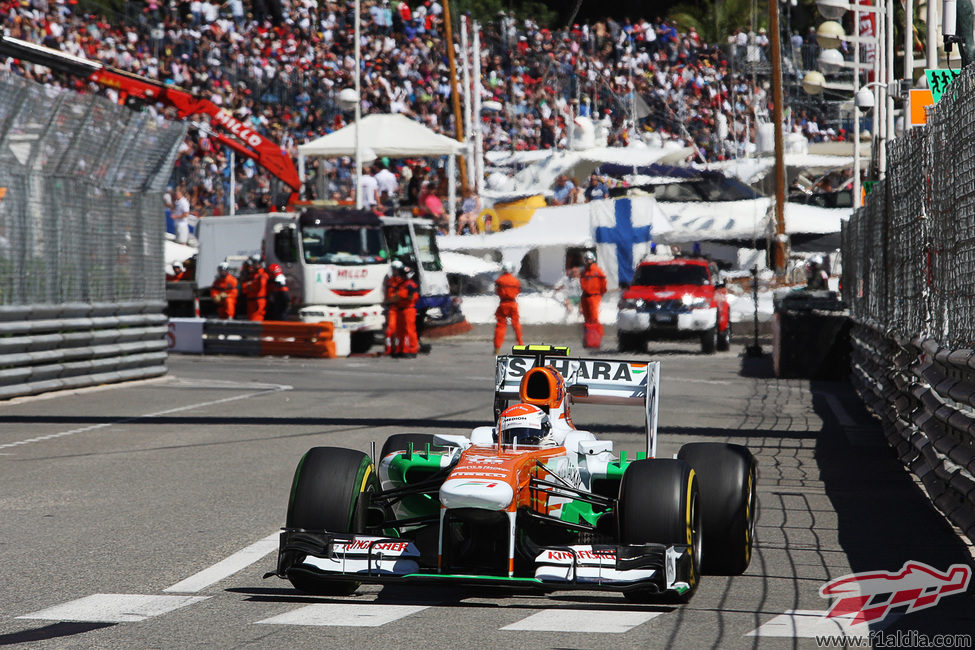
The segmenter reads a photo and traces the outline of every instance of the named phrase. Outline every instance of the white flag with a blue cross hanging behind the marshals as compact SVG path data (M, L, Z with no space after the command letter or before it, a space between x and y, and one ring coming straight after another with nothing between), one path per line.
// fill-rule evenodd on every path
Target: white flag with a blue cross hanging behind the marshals
M596 260L609 288L629 283L654 237L670 230L670 221L653 197L607 199L589 204Z

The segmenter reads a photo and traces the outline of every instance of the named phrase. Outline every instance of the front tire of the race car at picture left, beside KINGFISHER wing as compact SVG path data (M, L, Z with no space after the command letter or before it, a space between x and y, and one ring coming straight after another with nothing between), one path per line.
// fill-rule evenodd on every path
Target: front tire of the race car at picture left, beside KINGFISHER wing
M333 533L368 532L370 494L379 489L372 461L361 451L313 447L295 469L286 525ZM289 574L288 579L298 591L319 596L347 596L359 588L358 582L306 573Z

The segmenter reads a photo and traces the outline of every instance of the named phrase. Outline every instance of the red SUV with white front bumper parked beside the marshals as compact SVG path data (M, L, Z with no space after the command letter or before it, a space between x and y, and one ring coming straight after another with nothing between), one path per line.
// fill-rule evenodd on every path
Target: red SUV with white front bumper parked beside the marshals
M642 262L619 303L616 337L620 352L643 351L659 339L701 339L713 354L731 345L728 292L717 268L699 258Z

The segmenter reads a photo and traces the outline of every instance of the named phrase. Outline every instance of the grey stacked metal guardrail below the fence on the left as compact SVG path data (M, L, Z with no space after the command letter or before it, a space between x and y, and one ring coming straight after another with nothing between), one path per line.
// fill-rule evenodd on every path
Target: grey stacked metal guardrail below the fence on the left
M166 373L162 301L0 307L0 398Z

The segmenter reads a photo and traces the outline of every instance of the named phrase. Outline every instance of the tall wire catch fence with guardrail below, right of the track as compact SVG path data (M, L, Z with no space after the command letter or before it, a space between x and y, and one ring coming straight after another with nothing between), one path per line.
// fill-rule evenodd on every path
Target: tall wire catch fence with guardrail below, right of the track
M851 370L898 456L975 539L975 71L887 147L843 227Z

